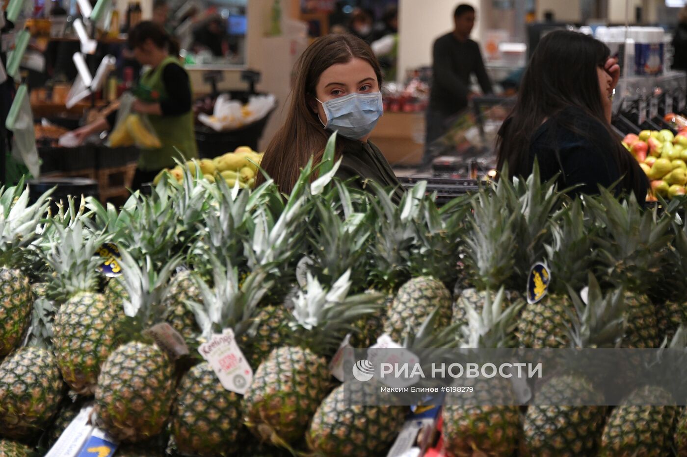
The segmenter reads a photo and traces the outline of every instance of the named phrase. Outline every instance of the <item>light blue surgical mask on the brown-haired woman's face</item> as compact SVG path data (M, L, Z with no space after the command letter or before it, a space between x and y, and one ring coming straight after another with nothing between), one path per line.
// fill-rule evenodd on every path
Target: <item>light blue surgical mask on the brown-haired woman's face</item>
M324 128L353 140L368 136L384 113L381 92L352 93L320 103L327 116L326 124L319 120Z

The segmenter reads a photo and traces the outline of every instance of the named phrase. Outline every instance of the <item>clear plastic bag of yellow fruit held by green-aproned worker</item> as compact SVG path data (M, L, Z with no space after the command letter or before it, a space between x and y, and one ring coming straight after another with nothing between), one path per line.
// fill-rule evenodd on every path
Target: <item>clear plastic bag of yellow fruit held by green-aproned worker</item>
M124 148L136 145L139 149L157 149L162 143L146 115L133 113L131 105L135 97L124 93L120 97L120 109L117 111L115 128L109 136L109 148Z

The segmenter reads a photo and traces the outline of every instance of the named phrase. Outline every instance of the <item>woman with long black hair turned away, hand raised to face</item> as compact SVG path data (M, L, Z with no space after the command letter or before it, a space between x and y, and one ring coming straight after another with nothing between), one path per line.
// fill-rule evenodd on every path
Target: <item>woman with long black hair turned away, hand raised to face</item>
M606 45L584 34L556 31L541 39L523 75L517 103L499 132L499 169L541 178L556 173L572 194L598 194L620 180L616 194L646 199L648 181L611 130L611 97L620 67ZM622 179L621 179L622 178Z

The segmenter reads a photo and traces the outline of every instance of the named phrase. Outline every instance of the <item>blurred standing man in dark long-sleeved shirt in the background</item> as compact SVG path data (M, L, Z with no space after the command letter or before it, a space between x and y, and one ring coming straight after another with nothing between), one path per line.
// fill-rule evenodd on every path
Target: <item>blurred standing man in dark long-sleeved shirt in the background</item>
M484 93L491 93L491 82L484 69L480 46L470 39L475 26L475 8L458 5L453 14L455 29L434 42L432 85L427 108L427 137L423 162L429 165L431 143L446 134L447 121L468 106L475 95L470 76L475 73Z

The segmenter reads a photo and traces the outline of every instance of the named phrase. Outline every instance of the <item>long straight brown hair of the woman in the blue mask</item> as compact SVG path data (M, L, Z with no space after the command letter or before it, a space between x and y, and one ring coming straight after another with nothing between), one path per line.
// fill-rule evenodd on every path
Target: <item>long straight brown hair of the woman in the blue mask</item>
M331 132L324 130L311 107L317 96L317 82L320 75L332 65L348 63L354 58L368 62L381 85L379 62L370 46L356 36L333 34L317 38L296 62L295 82L289 95L289 113L284 125L267 146L260 163L280 191L286 194L291 192L301 169L311 156L314 156L315 165L322 160ZM350 140L337 137L337 156L341 155L341 148L348 142ZM258 184L264 182L262 174L258 174L256 181Z

